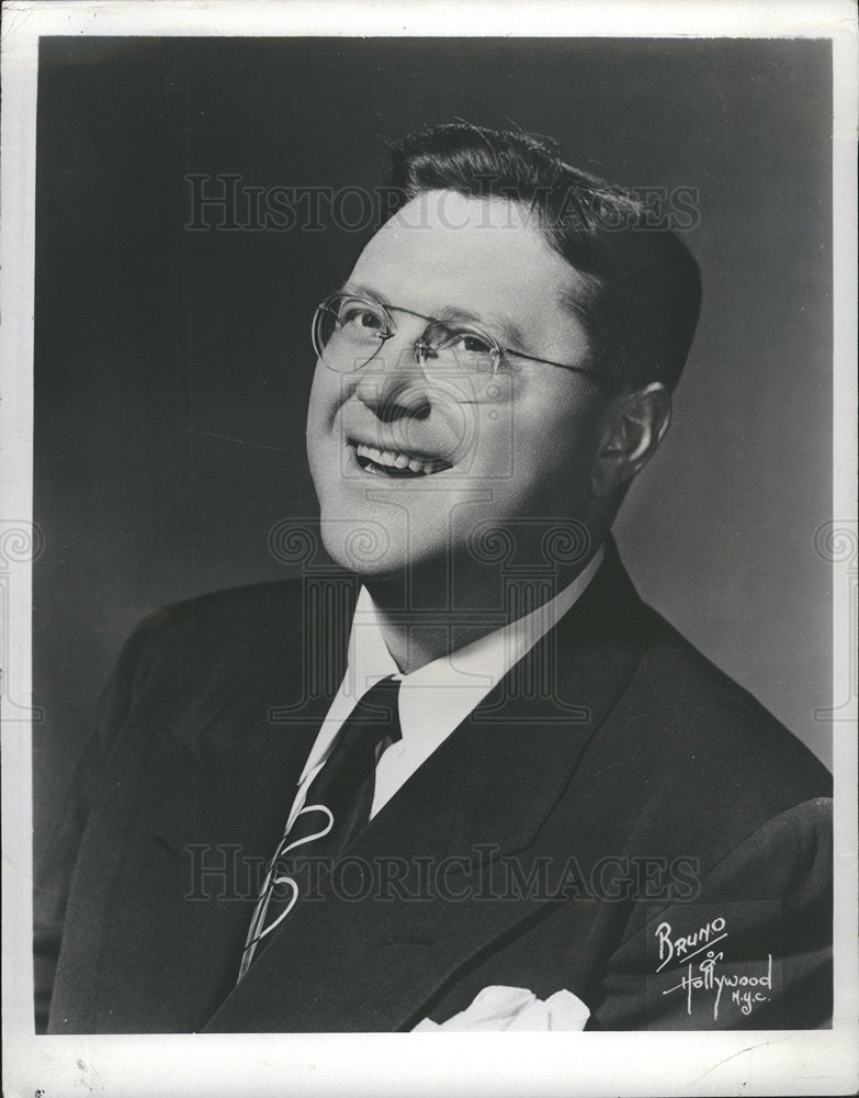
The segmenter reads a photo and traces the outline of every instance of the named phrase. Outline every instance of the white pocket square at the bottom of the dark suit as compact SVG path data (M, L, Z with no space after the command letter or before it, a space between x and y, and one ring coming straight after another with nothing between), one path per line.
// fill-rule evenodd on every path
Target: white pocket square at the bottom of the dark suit
M590 1011L577 995L562 988L547 999L538 999L527 987L485 987L472 1005L445 1022L425 1018L412 1033L431 1030L584 1030Z

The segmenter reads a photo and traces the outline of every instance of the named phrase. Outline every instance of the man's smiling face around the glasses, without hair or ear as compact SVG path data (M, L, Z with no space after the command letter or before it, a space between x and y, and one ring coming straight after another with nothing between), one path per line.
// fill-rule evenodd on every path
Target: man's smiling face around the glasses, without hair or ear
M564 303L577 273L520 206L438 191L376 233L348 287L391 306L396 333L354 372L316 363L307 447L329 553L366 578L410 567L443 582L451 564L467 576L475 551L486 563L475 535L491 525L511 534L517 564L540 564L553 523L588 518L604 397L579 373L515 357L488 384L440 377L416 358L427 321L411 313L584 366L585 330Z

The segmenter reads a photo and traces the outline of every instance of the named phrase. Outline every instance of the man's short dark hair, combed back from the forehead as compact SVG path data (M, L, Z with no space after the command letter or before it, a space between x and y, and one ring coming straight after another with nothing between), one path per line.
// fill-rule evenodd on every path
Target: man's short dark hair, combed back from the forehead
M567 304L585 326L594 365L621 385L677 384L701 306L698 264L674 233L647 225L629 191L565 164L551 141L459 123L394 146L388 183L397 195L392 212L434 190L527 206L581 276L584 293Z

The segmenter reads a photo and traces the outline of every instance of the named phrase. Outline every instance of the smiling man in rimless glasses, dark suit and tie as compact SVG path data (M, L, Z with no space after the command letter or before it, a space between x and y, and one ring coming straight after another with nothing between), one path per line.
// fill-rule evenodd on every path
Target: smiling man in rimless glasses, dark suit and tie
M346 571L129 641L46 871L49 942L82 829L50 1031L826 1024L828 775L610 535L694 261L521 134L416 135L392 182L314 320Z

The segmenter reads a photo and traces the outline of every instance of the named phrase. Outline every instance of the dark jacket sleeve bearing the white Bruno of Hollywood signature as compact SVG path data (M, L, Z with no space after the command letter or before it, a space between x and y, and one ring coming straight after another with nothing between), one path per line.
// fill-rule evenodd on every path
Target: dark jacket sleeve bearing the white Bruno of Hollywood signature
M828 798L767 821L703 876L689 901L637 912L588 1028L830 1024L832 869Z

